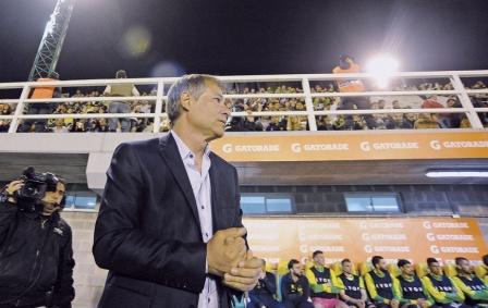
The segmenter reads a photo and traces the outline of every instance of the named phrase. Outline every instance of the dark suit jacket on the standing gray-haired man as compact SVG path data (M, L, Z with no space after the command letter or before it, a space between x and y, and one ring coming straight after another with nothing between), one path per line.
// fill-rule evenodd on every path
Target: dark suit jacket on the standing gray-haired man
M235 168L210 153L213 232L242 226ZM107 172L93 252L108 269L100 308L197 307L206 244L188 176L171 134L121 144ZM217 279L220 307L231 289Z

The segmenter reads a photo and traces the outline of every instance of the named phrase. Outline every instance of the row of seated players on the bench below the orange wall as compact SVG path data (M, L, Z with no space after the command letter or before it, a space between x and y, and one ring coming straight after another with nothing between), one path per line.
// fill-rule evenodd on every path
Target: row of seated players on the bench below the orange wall
M317 250L309 264L292 259L281 269L278 264L277 275L264 271L247 307L488 307L488 255L483 262L474 268L459 257L443 270L435 258L414 266L405 259L387 264L375 256L357 271L349 259L326 266L324 252Z

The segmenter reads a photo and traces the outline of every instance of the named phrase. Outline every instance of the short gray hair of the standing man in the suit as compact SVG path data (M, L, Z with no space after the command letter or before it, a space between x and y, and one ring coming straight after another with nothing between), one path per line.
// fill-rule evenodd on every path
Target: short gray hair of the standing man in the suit
M222 90L223 85L217 77L205 74L191 74L183 75L178 82L175 82L168 91L167 112L168 118L171 121L171 125L180 116L180 98L183 93L188 93L194 99L198 99L200 95L206 90L206 83L215 83Z

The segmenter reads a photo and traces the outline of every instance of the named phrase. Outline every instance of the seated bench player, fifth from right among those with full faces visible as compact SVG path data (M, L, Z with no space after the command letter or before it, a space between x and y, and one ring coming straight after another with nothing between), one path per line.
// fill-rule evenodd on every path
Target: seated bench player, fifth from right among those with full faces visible
M353 273L353 263L350 259L341 262L342 274L339 275L340 296L349 306L356 308L374 308L375 305L368 300L364 280Z

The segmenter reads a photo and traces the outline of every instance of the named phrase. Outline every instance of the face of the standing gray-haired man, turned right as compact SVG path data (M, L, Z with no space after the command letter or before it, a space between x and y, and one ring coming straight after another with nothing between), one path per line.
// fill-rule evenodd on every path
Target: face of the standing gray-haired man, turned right
M222 137L230 110L220 87L216 83L206 82L206 90L198 99L190 97L188 124L200 132L207 141Z

